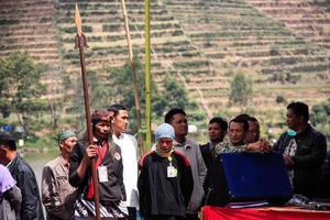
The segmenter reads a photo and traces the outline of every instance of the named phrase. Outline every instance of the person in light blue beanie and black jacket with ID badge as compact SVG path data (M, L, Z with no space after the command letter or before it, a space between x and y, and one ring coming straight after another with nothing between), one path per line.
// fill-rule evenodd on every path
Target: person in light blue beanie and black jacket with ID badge
M155 151L140 161L138 188L140 210L145 220L184 220L194 188L190 164L173 147L170 124L161 124L155 133Z

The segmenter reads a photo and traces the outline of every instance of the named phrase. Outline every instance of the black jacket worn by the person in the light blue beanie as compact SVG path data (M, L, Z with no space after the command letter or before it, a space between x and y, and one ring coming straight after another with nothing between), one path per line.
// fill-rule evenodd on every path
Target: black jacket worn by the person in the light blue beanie
M155 152L147 153L140 162L140 210L145 216L185 217L194 188L191 168L183 154L173 152L172 158L177 177L167 177L169 161Z

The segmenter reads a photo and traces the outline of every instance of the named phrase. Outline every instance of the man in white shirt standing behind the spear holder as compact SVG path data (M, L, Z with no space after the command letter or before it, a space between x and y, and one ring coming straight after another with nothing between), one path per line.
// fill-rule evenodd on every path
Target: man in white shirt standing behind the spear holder
M130 134L124 133L129 127L129 111L121 105L112 105L108 111L113 112L111 121L113 142L120 146L123 162L123 183L127 193L125 205L129 210L129 219L136 219L136 208L139 207L138 193L138 142Z

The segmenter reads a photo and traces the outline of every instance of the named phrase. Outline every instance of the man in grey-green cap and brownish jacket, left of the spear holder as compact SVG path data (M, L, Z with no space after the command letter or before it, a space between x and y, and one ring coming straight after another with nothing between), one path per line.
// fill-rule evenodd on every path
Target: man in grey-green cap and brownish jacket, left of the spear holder
M64 130L57 141L61 154L44 166L42 174L42 201L47 220L73 219L76 201L76 188L68 183L68 172L77 135L72 130Z

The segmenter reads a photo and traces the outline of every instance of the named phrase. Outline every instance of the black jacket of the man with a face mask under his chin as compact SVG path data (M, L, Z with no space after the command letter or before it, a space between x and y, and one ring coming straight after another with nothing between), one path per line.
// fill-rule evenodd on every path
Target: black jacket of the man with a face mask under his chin
M284 153L293 138L283 133L273 150ZM308 124L307 129L295 138L297 151L294 161L294 191L309 198L318 197L317 187L321 176L321 165L327 155L326 136Z

